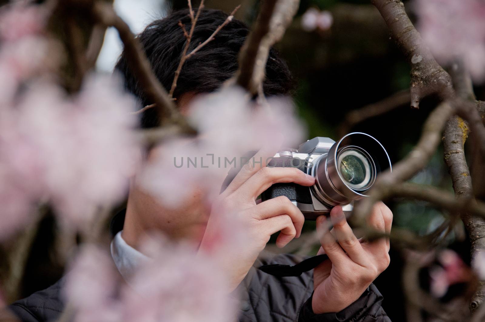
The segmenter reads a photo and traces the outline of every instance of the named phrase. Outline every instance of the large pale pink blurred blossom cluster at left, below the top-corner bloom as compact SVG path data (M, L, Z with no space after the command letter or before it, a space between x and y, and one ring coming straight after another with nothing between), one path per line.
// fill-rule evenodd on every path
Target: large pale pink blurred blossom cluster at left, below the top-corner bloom
M97 207L124 197L140 153L135 105L118 80L93 76L74 99L44 81L26 87L16 106L3 106L0 200L10 210L2 211L7 226L19 227L27 209L46 200L62 223L82 226Z

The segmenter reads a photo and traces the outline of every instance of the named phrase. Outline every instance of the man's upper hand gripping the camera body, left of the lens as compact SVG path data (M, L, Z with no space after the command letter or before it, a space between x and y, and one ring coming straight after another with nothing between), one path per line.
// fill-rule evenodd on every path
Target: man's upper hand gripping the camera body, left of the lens
M261 149L252 160L267 160L273 156ZM261 158L261 159L260 159ZM263 166L264 165L264 166ZM311 186L315 179L293 167L267 167L266 164L254 166L253 162L245 164L226 190L212 204L201 250L212 247L214 236L220 229L218 220L229 216L237 225L241 225L245 240L236 243L230 252L224 254L223 269L230 278L230 288L234 290L264 249L272 234L280 231L276 239L278 247L285 246L293 238L298 238L305 218L290 199L280 196L257 204L256 198L275 183L294 182Z

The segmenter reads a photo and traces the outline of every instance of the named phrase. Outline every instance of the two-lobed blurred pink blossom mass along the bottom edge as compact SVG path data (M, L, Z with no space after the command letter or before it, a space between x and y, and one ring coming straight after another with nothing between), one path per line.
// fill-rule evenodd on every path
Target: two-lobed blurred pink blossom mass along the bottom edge
M237 301L211 258L160 239L142 248L149 261L122 283L107 252L84 246L65 284L75 322L234 320Z

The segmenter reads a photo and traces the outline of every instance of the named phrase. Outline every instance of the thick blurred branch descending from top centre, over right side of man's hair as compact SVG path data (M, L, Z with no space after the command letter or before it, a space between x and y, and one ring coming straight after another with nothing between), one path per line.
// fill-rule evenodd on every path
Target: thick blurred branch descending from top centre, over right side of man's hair
M298 10L299 0L266 0L262 2L258 19L239 56L239 70L228 81L258 94L264 81L266 62L271 46L279 41Z

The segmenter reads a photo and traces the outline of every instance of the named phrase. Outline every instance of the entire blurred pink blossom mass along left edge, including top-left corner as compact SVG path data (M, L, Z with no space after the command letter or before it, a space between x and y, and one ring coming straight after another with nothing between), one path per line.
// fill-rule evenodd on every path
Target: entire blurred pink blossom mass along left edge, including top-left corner
M76 97L52 81L61 50L42 33L40 6L0 13L0 239L49 202L81 225L118 201L136 157L135 101L109 76L92 76Z

